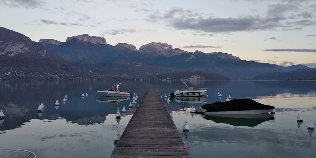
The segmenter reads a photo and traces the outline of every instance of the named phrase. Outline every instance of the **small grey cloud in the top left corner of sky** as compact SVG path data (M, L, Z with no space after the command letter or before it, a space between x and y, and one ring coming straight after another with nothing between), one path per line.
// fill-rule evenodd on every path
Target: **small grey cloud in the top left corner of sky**
M10 7L26 8L26 9L42 8L46 4L42 0L0 0L0 1L3 2L3 4Z

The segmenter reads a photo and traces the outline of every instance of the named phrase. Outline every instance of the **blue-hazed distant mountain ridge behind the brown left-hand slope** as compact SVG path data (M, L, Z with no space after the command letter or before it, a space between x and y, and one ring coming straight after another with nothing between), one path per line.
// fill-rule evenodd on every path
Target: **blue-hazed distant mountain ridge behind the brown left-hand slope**
M45 46L45 43L39 43ZM135 46L126 43L119 43L115 46L98 45L89 40L72 39L62 42L59 46L47 48L65 58L77 69L92 70L97 74L124 72L127 75L146 75L194 70L244 80L268 72L287 72L307 68L304 65L285 68L276 64L240 60L239 57L223 52L186 52L161 42L152 42L137 50ZM135 65L138 66L135 67Z

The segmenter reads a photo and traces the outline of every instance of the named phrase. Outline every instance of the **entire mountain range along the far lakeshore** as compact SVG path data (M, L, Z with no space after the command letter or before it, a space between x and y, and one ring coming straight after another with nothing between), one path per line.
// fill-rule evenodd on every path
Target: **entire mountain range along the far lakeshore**
M227 76L233 80L254 77L269 79L273 73L295 71L293 73L297 74L302 69L307 69L310 72L305 76L291 77L293 74L290 73L287 78L311 79L316 76L314 75L316 69L305 65L283 67L276 64L241 60L239 57L223 52L186 52L161 42L148 43L137 50L135 46L127 43L112 46L107 44L103 37L88 34L68 37L66 42L53 39L41 39L39 42L34 42L21 33L0 27L0 35L1 69L84 72L100 76L163 76L163 74L177 74L184 71L191 72L191 74L194 74L194 71L204 71L204 74L208 72L214 74L213 76L215 74L217 77L219 75L224 78ZM210 78L210 74L206 78L213 79ZM259 76L262 74L265 74L264 77ZM203 76L203 73L200 75ZM283 80L287 78L283 78Z

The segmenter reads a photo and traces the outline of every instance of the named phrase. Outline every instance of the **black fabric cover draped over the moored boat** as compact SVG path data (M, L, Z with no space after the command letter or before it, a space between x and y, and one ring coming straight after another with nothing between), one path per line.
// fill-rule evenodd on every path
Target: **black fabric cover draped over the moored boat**
M274 106L258 103L252 99L233 99L229 101L216 101L215 103L205 104L201 107L208 112L259 110L275 108Z

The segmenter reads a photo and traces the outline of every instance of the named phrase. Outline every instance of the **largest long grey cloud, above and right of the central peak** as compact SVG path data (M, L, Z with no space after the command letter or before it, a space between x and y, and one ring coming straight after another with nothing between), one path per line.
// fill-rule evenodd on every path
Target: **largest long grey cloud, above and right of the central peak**
M192 13L181 8L172 9L165 14L150 14L147 21L160 23L171 22L168 24L176 29L191 29L203 32L231 32L231 31L255 31L255 30L274 30L277 27L286 27L281 23L284 17L244 16L237 18L213 18Z

